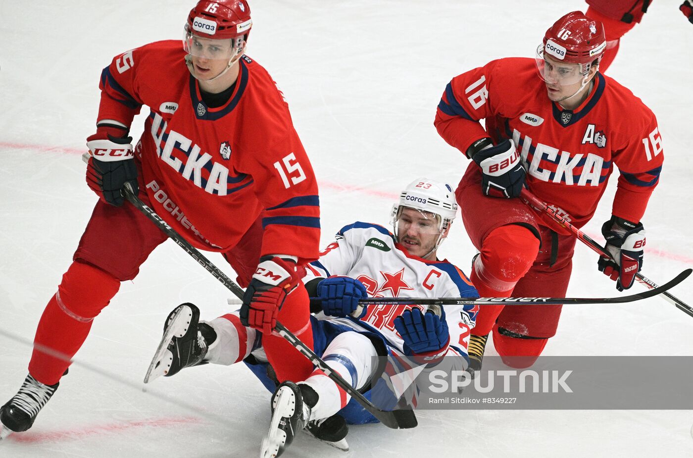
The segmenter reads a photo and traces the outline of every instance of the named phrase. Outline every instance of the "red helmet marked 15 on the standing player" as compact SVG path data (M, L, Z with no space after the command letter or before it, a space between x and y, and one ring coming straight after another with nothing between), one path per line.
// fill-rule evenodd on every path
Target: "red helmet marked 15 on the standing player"
M245 0L200 0L188 15L186 32L198 37L227 39L244 37L253 25Z

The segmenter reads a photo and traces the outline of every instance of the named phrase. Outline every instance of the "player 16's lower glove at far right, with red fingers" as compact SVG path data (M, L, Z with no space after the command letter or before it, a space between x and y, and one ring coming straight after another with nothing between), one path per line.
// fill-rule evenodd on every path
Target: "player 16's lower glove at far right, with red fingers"
M616 289L627 290L633 286L635 274L642 269L642 255L645 246L645 230L642 223L611 217L602 226L606 238L606 251L614 259L599 258L599 271L616 280Z

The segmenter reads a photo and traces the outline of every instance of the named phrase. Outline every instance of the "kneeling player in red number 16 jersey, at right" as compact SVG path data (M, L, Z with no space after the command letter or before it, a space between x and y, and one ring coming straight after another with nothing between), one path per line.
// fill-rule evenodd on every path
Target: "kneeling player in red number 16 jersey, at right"
M471 280L482 297L565 297L575 238L516 197L527 186L581 227L614 166L620 176L602 234L616 262L599 258L598 267L619 290L642 267L640 220L658 183L662 139L650 109L599 73L605 46L602 24L570 12L547 30L536 60L494 60L456 76L443 94L435 127L472 159L456 195L480 251ZM491 331L506 364L531 365L560 314L561 306L482 306L471 367L480 367Z

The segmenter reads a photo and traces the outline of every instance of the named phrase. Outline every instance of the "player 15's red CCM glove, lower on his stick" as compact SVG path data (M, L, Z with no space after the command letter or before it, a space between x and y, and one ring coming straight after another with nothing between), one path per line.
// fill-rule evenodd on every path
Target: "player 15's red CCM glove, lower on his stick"
M271 334L277 324L279 309L299 284L296 261L279 256L263 256L250 285L243 294L240 323Z

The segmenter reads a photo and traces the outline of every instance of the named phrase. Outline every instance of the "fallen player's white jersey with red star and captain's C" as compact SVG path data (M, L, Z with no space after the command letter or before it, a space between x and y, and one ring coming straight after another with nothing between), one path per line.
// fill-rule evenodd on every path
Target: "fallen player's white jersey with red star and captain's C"
M411 256L396 243L394 235L377 224L355 222L337 233L317 261L306 265L304 283L316 277L350 276L363 283L369 297L479 297L471 281L448 261L428 261ZM407 309L428 306L376 304L368 306L361 319L326 317L319 319L370 331L385 337L392 348L403 352L403 340L394 328L394 319ZM474 327L478 306L444 306L450 331L446 355L467 359L469 333Z

